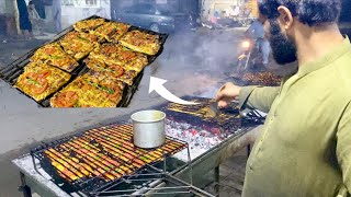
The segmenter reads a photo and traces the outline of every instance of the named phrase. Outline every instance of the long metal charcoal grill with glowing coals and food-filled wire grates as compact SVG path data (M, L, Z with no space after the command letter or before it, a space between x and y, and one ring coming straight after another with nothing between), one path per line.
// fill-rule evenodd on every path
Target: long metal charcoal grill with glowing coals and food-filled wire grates
M134 147L131 125L118 123L44 143L13 162L25 175L24 185L44 196L211 196L193 185L203 186L199 178L217 167L226 149L262 117L241 117L237 104L211 117L213 100L184 99L201 104L154 107L167 114L167 134L180 134L161 148Z

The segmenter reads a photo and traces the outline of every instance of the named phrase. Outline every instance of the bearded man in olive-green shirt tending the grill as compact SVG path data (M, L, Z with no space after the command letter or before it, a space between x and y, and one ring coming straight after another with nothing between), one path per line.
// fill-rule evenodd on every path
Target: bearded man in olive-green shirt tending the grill
M242 196L350 196L351 44L338 28L341 0L258 0L275 61L298 62L279 88L225 84L269 113L249 157Z

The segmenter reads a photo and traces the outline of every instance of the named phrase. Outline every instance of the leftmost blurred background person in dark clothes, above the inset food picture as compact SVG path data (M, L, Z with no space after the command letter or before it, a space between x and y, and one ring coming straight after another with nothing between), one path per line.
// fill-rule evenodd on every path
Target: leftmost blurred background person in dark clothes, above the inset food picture
M26 9L26 4L24 0L16 0L18 1L18 9L19 9L19 22L20 22L20 30L22 31L22 34L24 35L25 39L32 39L33 38L33 32L32 32L32 24L29 16L29 11Z

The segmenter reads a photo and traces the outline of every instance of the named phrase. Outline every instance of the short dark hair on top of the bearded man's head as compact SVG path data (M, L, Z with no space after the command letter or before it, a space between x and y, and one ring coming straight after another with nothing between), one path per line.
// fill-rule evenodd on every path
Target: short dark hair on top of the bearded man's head
M259 0L261 14L269 19L279 16L280 5L286 7L294 18L309 26L337 22L341 11L341 0Z

